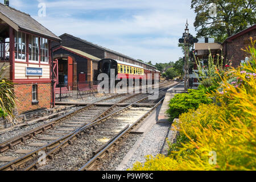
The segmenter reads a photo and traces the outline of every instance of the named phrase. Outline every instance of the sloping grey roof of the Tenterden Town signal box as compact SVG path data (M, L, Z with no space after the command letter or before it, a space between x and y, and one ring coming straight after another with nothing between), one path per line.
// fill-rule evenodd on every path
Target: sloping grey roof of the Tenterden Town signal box
M42 26L42 24L37 22L29 14L16 10L13 7L5 6L2 3L0 3L0 15L5 16L5 18L13 22L16 26L19 27L19 30L24 30L37 35L42 35L46 38L57 40L59 42L61 41L61 39L58 36L49 31L46 27ZM13 28L16 29L15 27Z

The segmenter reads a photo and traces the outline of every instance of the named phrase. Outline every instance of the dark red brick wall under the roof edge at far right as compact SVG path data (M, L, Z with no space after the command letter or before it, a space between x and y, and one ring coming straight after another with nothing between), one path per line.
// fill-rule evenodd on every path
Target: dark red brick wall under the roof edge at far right
M232 42L227 42L223 45L223 52L227 60L232 60L232 66L238 67L241 60L245 60L246 56L249 56L246 52L242 51L241 48L245 49L250 43L250 37L256 39L256 30L252 30L238 36ZM233 58L232 58L233 57Z

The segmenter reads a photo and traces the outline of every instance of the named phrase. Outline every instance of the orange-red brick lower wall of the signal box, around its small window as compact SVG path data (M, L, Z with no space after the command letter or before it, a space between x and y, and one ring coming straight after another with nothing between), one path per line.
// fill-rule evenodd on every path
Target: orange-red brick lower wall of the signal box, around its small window
M32 105L32 85L33 84L15 84L14 92L18 99L18 114L27 111L51 107L51 84L38 84L38 101L37 105Z

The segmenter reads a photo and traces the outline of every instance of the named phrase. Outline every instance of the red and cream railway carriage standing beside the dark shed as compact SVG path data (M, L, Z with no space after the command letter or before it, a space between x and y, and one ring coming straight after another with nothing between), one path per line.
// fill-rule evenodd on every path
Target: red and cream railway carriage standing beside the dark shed
M111 75L110 70L115 70L115 75ZM144 79L152 79L154 81L155 74L158 75L158 80L160 78L160 72L156 70L144 69L143 67L135 64L126 63L119 60L114 59L102 59L98 62L98 73L106 73L109 78L117 77L133 79L133 80L144 80ZM150 75L150 73L152 75Z

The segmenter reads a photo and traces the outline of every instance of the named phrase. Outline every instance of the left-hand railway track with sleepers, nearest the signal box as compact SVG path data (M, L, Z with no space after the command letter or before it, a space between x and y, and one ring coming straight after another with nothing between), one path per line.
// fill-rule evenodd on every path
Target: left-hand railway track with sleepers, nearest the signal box
M119 96L122 98L124 95L121 94ZM0 156L0 159L6 158L7 163L2 164L0 170L28 170L37 168L40 151L47 152L47 157L52 158L54 152L63 150L64 147L72 144L72 141L80 137L83 131L95 129L97 123L104 122L106 118L113 114L131 107L134 103L127 107L119 107L117 105L135 97L137 97L137 102L142 102L147 98L141 99L142 96L140 94L134 94L120 99L111 107L96 107L96 103L94 103L64 115L62 118L47 123L47 125L41 126L38 129L2 143L0 150L7 152L5 152L4 156ZM104 101L106 99L98 102ZM14 147L16 145L18 147Z

